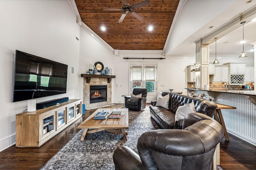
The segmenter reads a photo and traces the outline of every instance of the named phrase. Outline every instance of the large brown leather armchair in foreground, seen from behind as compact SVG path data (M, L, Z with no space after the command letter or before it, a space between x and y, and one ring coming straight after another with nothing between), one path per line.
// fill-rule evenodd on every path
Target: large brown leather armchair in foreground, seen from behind
M137 150L118 147L113 161L116 170L210 170L223 137L224 130L217 121L202 113L189 113L182 129L143 133Z

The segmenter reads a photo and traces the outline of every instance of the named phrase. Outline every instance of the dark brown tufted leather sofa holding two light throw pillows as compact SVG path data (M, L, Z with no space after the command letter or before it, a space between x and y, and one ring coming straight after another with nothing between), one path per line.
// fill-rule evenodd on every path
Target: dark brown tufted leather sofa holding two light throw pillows
M217 108L216 104L208 100L201 100L182 94L163 92L162 96L165 95L170 95L169 109L156 106L156 101L152 101L149 106L151 117L156 121L157 125L161 129L181 129L183 120L175 122L175 113L179 106L194 102L196 112L204 113L209 117L213 117L214 111Z

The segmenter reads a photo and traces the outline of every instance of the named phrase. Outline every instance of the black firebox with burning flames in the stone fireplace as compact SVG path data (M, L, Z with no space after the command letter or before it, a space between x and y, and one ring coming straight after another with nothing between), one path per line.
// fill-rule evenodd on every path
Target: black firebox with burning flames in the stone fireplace
M90 86L90 103L107 101L107 86Z

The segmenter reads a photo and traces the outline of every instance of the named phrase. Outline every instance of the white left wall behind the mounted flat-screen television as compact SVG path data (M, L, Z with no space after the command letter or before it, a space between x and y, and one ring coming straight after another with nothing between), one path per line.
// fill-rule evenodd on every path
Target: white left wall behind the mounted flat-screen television
M79 26L67 0L0 0L0 151L15 143L15 115L27 101L12 103L15 50L68 64L67 94L79 98ZM74 74L71 74L74 67Z

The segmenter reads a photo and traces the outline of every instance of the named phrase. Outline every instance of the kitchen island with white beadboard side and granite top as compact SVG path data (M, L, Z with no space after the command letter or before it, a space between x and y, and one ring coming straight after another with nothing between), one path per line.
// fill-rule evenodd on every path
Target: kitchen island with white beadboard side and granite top
M256 92L254 90L185 89L189 96L236 107L236 109L222 111L228 133L256 146Z

